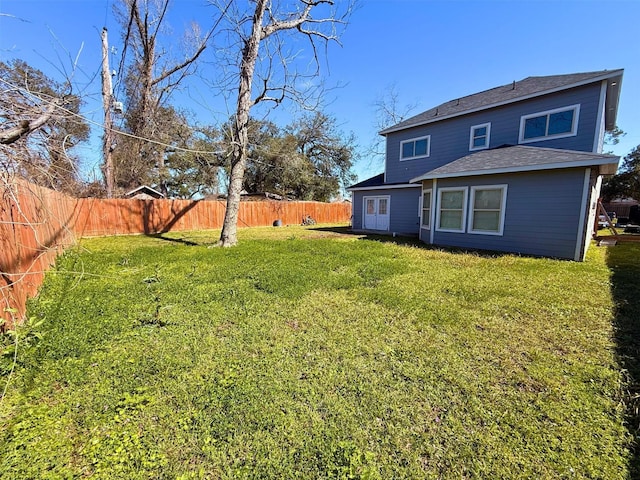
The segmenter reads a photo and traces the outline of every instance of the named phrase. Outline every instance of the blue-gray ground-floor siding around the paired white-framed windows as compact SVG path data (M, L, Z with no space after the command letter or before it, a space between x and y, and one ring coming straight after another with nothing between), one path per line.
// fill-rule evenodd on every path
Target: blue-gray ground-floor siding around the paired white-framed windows
M506 211L502 236L436 230L433 243L573 259L581 231L584 175L585 169L572 168L439 180L438 188L507 184ZM423 234L423 239L428 241L428 236Z

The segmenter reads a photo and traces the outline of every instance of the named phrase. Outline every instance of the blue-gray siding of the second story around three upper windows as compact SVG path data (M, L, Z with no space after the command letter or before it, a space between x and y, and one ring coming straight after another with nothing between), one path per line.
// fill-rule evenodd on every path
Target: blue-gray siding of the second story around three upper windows
M407 182L434 168L469 154L469 132L473 125L491 122L491 148L517 145L520 117L570 105L580 105L578 133L574 137L527 143L528 146L593 151L597 132L600 83L594 83L531 100L415 127L387 136L385 181ZM431 154L427 158L400 161L400 142L431 135Z

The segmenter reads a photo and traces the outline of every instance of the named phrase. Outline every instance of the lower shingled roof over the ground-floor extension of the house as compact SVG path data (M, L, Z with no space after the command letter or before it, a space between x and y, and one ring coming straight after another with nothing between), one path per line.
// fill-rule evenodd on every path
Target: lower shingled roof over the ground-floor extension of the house
M620 157L615 155L591 152L524 145L506 146L466 155L410 181L590 166L599 166L601 175L612 175L618 168L619 160Z

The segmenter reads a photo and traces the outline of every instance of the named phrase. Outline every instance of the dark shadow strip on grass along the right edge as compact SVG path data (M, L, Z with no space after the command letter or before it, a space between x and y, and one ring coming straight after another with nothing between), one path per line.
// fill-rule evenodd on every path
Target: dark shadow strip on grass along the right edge
M625 425L633 439L629 478L640 478L640 244L610 247L607 265L616 306L616 354L626 376Z

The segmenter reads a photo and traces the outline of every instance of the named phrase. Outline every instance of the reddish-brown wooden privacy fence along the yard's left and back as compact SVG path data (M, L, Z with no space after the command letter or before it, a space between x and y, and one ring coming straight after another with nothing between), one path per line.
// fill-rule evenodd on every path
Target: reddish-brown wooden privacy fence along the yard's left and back
M0 318L21 319L45 271L66 247L89 236L152 234L222 227L226 203L209 200L76 199L0 177ZM348 203L242 202L238 227L344 223Z

